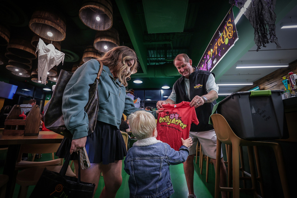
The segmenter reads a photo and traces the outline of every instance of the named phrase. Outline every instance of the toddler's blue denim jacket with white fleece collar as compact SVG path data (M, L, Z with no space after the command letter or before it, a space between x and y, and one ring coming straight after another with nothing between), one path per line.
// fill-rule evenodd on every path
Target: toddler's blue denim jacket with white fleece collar
M131 198L166 198L174 193L169 165L186 161L189 150L179 151L154 137L138 140L128 150L124 170L129 177Z

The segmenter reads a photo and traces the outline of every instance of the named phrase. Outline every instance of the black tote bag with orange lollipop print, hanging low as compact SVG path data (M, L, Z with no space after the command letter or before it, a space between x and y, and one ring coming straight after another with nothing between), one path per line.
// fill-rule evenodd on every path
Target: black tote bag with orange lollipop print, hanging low
M80 154L78 154L78 157ZM80 163L78 163L78 178L65 175L69 161L68 152L60 173L45 170L41 174L30 198L92 198L95 184L80 181ZM78 159L80 161L80 159ZM98 175L99 177L99 175Z

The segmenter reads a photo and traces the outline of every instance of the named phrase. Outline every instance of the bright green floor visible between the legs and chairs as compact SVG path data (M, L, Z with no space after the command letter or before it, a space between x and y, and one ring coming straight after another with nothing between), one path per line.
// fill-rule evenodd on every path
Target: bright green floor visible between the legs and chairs
M2 171L3 171L3 162L4 162L5 157L6 157L6 152L0 151L0 160L1 160L0 173L2 173ZM36 161L39 161L39 160L46 161L49 159L51 159L51 154L43 154L41 159L36 159ZM30 160L30 154L29 154L29 160ZM123 166L124 166L124 164L123 164ZM195 188L195 194L196 194L197 198L213 198L214 197L214 181L215 181L215 173L214 173L213 165L212 164L209 165L210 167L209 167L209 182L208 183L205 182L205 172L206 172L205 161L204 161L204 169L203 169L202 175L200 175L199 163L195 164L195 161L194 161L194 166L195 166L194 188ZM185 179L184 172L183 172L183 164L170 166L170 174L171 174L171 181L173 183L173 188L175 191L174 194L172 196L170 196L170 198L187 198L188 192L187 192L186 179ZM128 187L129 175L127 175L126 172L123 170L122 176L123 176L123 183L117 192L116 198L129 197L129 187ZM103 187L104 187L104 179L101 176L95 197L100 196L100 193L101 193L101 190ZM27 197L29 197L33 188L34 188L34 186L29 187ZM18 192L19 192L19 185L16 184L13 198L17 198ZM241 193L240 197L249 198L252 196Z

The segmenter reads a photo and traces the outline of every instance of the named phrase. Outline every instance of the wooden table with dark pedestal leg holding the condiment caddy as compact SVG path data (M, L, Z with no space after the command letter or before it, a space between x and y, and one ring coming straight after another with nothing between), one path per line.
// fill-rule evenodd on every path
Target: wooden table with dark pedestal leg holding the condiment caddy
M61 143L63 136L52 131L40 131L38 136L6 136L0 131L0 145L8 145L3 174L9 176L6 187L6 198L13 196L15 188L15 163L21 144L51 144Z

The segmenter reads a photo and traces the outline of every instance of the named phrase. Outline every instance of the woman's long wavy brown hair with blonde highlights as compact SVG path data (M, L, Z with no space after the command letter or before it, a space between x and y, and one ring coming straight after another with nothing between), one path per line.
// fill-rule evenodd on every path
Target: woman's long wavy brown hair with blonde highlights
M135 51L126 46L118 46L110 49L109 51L102 54L100 58L98 58L103 65L109 67L116 74L118 80L125 87L128 85L127 81L130 80L131 74L137 72L137 55ZM130 72L129 67L126 64L126 61L134 60L134 64L132 65Z

